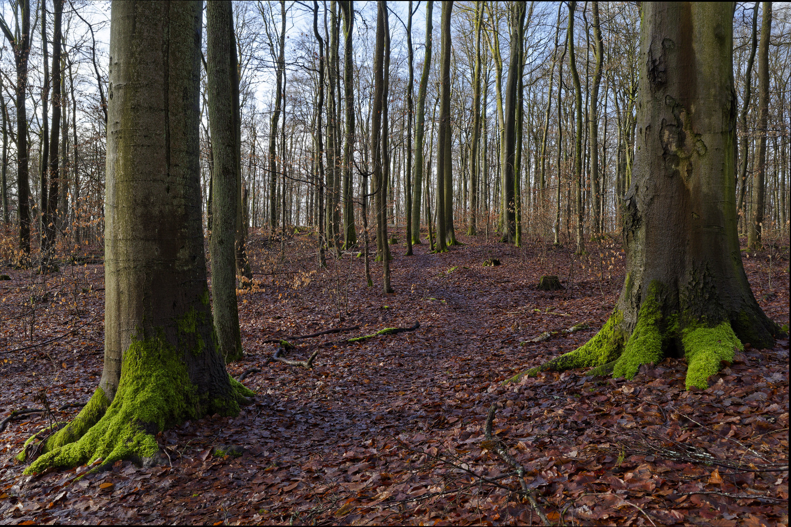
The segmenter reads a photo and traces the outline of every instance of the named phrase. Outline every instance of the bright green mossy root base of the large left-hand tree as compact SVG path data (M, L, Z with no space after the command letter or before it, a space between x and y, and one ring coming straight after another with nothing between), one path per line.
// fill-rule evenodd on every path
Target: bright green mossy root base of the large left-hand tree
M163 334L133 340L124 354L122 371L112 402L98 388L74 421L40 445L42 455L25 469L26 474L99 459L103 465L120 459L151 463L159 452L158 432L207 414L237 415L239 403L253 395L227 375L228 381L196 385L187 364ZM27 452L23 450L21 457Z

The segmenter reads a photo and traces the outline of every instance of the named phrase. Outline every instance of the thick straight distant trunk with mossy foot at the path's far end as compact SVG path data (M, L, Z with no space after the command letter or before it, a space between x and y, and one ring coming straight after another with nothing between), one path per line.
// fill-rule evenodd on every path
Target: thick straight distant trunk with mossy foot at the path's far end
M448 199L445 195L452 195L453 188L448 184L452 178L451 157L451 126L450 126L450 15L453 2L442 2L442 19L440 22L441 51L440 51L440 127L437 132L437 252L448 250L447 225ZM452 204L452 200L450 202Z

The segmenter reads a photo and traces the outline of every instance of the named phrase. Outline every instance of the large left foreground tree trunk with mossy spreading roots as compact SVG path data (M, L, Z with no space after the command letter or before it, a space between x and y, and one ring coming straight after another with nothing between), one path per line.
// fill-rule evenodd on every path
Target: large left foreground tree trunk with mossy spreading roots
M104 371L28 473L153 461L154 435L252 392L214 347L199 191L201 2L114 2ZM135 30L135 28L137 28Z

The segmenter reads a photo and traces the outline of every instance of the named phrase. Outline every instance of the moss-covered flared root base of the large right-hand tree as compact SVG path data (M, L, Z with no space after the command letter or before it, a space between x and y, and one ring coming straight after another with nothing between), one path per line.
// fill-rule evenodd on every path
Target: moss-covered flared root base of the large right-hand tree
M668 355L687 359L687 389L709 387L709 377L725 362L732 362L742 345L729 320L718 324L706 320L679 320L683 313L663 309L662 287L653 282L640 306L637 324L631 333L625 328L623 313L615 309L607 323L585 345L562 354L515 377L535 377L543 371L588 368L591 375L611 375L632 379L640 366L660 362ZM680 351L680 353L679 353Z

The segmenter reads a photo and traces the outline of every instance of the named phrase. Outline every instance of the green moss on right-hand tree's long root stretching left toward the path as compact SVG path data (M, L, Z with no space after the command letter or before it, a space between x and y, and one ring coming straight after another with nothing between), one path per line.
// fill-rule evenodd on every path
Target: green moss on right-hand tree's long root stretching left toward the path
M531 368L525 372L511 377L505 382L517 382L521 377L536 377L542 371L565 371L576 368L593 368L612 362L619 357L623 349L623 313L615 309L607 323L604 324L596 335L583 346L574 351L562 354L541 366Z

